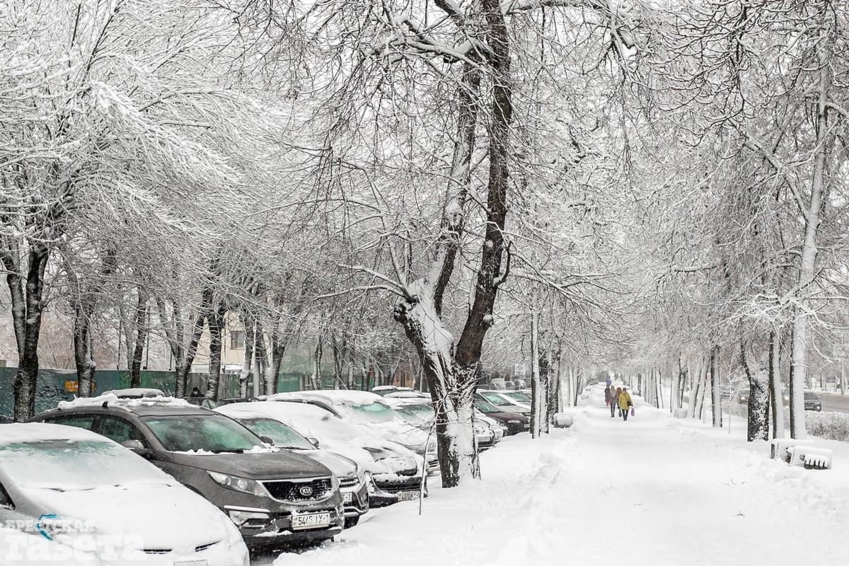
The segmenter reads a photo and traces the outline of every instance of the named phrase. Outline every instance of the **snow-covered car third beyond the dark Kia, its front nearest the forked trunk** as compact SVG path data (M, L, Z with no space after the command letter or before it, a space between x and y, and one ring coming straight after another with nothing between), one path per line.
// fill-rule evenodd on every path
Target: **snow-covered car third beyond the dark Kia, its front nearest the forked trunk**
M350 389L321 389L270 395L268 401L304 401L357 424L372 434L406 446L427 460L428 471L439 469L436 441L397 414L380 395Z

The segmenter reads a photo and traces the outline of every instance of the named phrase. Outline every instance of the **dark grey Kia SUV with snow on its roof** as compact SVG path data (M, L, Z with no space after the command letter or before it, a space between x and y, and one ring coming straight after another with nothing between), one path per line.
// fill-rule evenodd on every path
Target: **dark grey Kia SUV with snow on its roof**
M149 459L220 507L252 547L318 542L345 524L339 481L323 464L194 406L113 402L42 413L31 422L89 429Z

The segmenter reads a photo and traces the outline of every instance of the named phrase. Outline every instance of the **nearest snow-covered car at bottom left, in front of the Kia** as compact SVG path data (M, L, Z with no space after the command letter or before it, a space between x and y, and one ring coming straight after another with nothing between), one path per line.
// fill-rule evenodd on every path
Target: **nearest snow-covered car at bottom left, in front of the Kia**
M44 564L248 564L239 530L219 509L76 427L0 425L0 523L51 541L37 549Z

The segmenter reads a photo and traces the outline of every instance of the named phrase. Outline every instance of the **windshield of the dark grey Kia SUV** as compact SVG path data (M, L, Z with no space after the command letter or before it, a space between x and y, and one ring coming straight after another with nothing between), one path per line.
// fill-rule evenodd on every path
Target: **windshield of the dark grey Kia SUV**
M171 452L244 452L262 446L262 440L233 419L216 415L147 417L143 422Z

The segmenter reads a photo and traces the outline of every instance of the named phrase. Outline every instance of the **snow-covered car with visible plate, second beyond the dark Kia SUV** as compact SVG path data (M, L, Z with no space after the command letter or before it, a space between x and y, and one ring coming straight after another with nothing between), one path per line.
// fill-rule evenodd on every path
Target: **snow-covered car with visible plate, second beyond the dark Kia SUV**
M261 412L289 425L318 446L351 458L368 474L371 507L416 499L427 480L422 477L424 460L404 446L371 434L368 430L337 417L334 413L299 401L257 401L220 406L216 411Z

